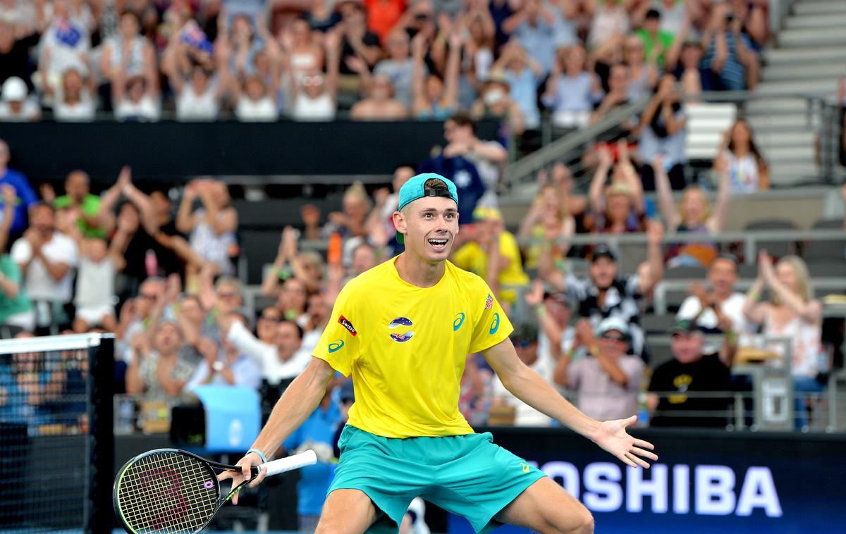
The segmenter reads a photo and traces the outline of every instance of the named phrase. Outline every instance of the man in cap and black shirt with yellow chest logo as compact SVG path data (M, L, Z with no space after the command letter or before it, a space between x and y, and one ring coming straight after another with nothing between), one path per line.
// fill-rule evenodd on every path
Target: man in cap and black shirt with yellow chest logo
M651 426L724 428L729 422L737 340L726 335L720 351L704 354L705 339L693 321L678 321L670 333L674 359L653 371L646 397L654 414Z

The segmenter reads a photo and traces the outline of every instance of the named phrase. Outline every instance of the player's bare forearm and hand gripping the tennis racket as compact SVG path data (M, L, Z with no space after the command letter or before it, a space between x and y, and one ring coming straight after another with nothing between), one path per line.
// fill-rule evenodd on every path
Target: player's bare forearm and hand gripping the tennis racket
M267 424L261 429L259 437L255 439L250 450L261 450L266 455L267 460L270 460L279 445L294 430L299 428L299 425L303 424L312 411L316 410L326 392L327 384L334 374L335 369L327 362L320 358L311 358L309 366L291 382L282 398L273 407L273 411L267 419ZM241 472L223 471L217 479L232 478L234 488L244 480L250 479L251 466L258 466L261 463L263 463L261 456L255 452L250 452L235 464L241 467ZM265 471L261 471L259 476L255 477L255 480L250 483L250 487L260 484L265 475ZM238 493L235 493L232 503L238 504Z

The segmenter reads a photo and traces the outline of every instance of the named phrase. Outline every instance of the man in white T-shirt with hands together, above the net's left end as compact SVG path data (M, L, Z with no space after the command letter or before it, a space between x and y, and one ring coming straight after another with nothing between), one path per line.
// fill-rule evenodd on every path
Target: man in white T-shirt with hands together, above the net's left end
M39 325L46 326L43 313L49 313L49 303L67 304L73 297L74 268L79 262L74 240L56 230L56 214L50 204L30 208L30 228L14 242L11 255L24 273L26 292L43 319Z

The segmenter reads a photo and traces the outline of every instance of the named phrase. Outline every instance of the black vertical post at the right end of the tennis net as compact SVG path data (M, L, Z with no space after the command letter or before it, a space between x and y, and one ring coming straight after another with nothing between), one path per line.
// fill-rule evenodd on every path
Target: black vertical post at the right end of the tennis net
M85 532L109 534L114 523L114 335L102 335L88 349L89 480Z

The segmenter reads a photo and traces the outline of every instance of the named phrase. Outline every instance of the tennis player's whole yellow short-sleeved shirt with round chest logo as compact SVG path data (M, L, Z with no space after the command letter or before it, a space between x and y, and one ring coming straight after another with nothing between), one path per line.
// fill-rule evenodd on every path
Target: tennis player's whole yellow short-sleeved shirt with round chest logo
M479 276L447 262L435 286L417 287L395 261L343 287L314 356L352 374L356 428L385 438L473 433L459 411L464 362L514 328Z

